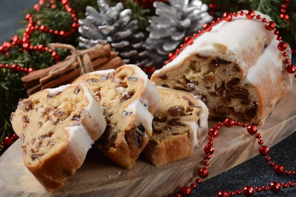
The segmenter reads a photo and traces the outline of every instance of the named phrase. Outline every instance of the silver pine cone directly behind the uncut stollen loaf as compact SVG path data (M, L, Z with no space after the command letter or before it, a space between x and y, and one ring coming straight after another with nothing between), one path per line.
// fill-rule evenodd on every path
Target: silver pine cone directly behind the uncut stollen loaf
M169 4L155 1L157 16L152 16L147 27L149 37L146 48L155 66L162 66L168 54L184 42L185 36L193 35L213 20L208 6L201 0L168 0Z

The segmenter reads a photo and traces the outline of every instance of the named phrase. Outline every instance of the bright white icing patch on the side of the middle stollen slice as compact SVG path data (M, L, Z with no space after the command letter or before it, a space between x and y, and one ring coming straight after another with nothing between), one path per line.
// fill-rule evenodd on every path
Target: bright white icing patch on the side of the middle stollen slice
M152 114L148 111L148 109L142 104L140 99L134 100L131 104L129 104L124 111L132 112L135 115L135 127L138 127L141 123L145 129L148 136L152 135Z

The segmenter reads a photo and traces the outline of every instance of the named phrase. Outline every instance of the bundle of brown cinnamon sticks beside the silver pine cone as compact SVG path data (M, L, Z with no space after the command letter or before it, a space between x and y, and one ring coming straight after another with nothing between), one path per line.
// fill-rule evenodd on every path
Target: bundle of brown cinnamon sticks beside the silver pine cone
M88 55L87 58L90 60L90 69L88 70L93 71L111 68L116 69L117 67L124 65L121 58L117 56L116 52L111 51L109 44L104 46L98 45L91 48L91 50L85 50L85 52ZM28 96L40 90L55 88L61 85L72 83L77 77L79 77L81 74L84 74L86 71L83 69L83 67L81 67L81 57L75 57L78 61L74 62L73 64L71 62L71 65L68 64L65 66L67 63L69 63L67 61L70 61L73 56L74 53L71 56L68 56L63 62L51 67L32 71L28 75L22 77L21 80L23 82L24 88L27 89ZM83 72L81 69L83 69Z

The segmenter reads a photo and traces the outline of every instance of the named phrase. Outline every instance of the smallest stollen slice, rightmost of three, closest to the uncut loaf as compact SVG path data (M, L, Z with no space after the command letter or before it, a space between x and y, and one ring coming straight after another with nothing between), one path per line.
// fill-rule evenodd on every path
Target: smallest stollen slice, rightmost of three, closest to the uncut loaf
M190 93L157 86L159 106L145 153L159 166L189 156L208 134L209 110Z

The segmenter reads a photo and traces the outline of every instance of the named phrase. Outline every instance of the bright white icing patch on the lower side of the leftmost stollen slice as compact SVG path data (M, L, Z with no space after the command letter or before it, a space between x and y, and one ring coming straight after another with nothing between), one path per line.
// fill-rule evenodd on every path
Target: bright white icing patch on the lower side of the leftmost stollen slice
M94 141L90 138L83 125L70 126L65 128L69 133L69 143L71 150L76 158L82 163L87 151L91 148Z

